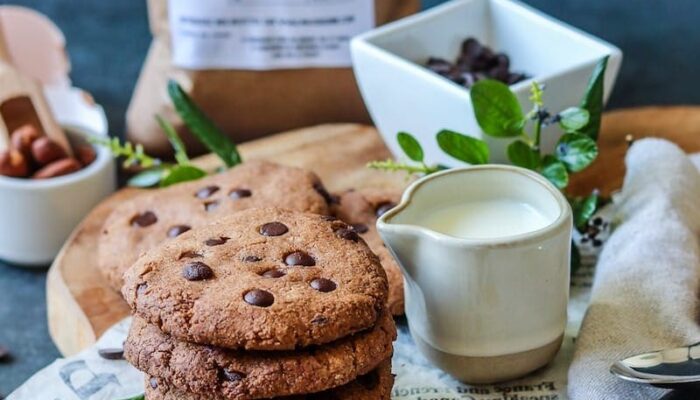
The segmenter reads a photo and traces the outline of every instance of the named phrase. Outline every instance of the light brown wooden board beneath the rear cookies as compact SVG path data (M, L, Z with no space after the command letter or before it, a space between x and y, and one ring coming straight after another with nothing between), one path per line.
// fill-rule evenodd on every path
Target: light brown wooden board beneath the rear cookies
M611 112L603 119L601 152L596 163L571 185L576 194L599 188L604 194L620 187L624 176L625 136L660 136L686 151L700 151L700 107L643 108ZM282 133L240 146L245 159L267 159L316 172L331 191L363 187L403 188L404 174L372 171L368 161L389 152L371 127L322 125ZM218 165L214 156L197 160L205 168ZM92 345L111 325L128 316L126 303L112 291L96 267L97 236L111 209L137 190L125 189L96 207L68 239L47 278L51 336L69 356Z

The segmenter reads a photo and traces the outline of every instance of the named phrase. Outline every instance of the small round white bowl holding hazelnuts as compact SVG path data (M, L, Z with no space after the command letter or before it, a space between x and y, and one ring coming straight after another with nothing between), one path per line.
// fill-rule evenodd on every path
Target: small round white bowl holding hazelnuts
M65 127L71 135L85 129ZM92 134L92 133L90 133ZM83 217L116 187L109 149L75 173L46 180L0 176L0 260L47 266Z

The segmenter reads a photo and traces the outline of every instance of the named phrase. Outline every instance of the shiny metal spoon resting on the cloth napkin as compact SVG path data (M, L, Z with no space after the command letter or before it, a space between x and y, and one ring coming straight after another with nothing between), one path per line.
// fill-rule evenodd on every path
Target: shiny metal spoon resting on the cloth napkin
M613 364L610 372L626 381L662 388L700 388L700 342L629 357Z

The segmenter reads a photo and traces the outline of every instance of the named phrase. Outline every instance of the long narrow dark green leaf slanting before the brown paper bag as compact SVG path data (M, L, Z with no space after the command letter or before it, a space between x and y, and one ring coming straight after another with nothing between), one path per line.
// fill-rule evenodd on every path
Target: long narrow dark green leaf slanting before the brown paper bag
M177 82L168 82L168 94L175 105L175 110L185 122L192 134L211 152L219 156L227 167L242 162L236 144L224 135L214 122L197 107Z

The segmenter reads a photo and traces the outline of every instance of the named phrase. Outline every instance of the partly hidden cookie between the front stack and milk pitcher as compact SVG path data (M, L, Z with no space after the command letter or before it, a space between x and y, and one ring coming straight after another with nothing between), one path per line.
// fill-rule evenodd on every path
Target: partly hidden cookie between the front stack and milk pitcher
M351 224L374 251L389 280L389 311L403 315L403 275L396 260L377 232L377 218L401 199L401 193L384 189L350 190L338 196L331 209L335 216Z

